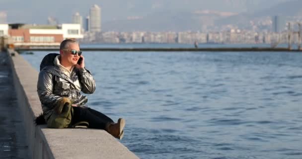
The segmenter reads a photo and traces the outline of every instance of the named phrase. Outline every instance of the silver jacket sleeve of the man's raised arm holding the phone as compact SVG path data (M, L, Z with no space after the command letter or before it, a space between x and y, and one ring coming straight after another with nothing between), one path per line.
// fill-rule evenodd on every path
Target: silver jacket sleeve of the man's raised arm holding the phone
M90 72L84 68L79 69L79 79L81 83L81 91L86 94L91 94L95 90L95 81Z

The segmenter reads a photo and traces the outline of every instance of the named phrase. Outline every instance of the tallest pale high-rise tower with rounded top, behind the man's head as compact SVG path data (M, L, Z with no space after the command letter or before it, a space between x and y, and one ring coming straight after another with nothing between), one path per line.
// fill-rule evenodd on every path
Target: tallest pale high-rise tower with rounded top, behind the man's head
M89 15L89 31L90 32L100 32L101 31L101 8L94 4L90 8Z

